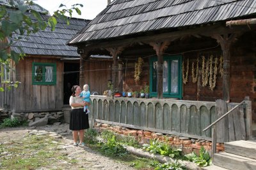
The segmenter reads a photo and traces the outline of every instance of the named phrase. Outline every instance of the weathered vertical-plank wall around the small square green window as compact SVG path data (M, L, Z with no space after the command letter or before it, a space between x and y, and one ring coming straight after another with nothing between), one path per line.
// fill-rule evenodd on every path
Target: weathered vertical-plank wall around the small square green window
M32 63L56 63L56 85L32 85ZM14 90L11 109L17 113L61 110L63 106L63 62L60 59L26 57L16 66L15 80L21 84Z

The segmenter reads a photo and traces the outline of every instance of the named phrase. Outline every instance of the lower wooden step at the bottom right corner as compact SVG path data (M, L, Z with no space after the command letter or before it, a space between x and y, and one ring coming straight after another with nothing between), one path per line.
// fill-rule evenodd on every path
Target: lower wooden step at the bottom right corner
M255 170L256 160L235 155L232 153L221 152L214 154L213 164L215 166L225 167L234 170Z

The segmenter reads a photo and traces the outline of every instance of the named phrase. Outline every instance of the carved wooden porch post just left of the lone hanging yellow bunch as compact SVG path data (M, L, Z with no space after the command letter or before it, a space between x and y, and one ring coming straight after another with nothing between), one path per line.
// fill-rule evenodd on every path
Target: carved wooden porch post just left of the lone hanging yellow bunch
M112 57L113 57L113 89L118 90L119 92L122 92L122 89L118 89L118 59L117 55L122 52L123 47L117 47L117 48L106 48L108 50Z

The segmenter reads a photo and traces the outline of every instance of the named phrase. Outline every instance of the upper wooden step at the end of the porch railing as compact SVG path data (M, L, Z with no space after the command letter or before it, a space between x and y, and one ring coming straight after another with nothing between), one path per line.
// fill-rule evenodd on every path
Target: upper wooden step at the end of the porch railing
M255 141L232 141L225 143L225 152L256 159Z

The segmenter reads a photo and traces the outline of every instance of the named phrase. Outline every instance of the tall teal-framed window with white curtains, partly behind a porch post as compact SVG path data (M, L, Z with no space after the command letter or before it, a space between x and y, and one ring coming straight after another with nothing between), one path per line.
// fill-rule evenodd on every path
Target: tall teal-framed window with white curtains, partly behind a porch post
M181 59L163 57L163 97L182 97ZM150 96L157 96L157 57L150 59Z

